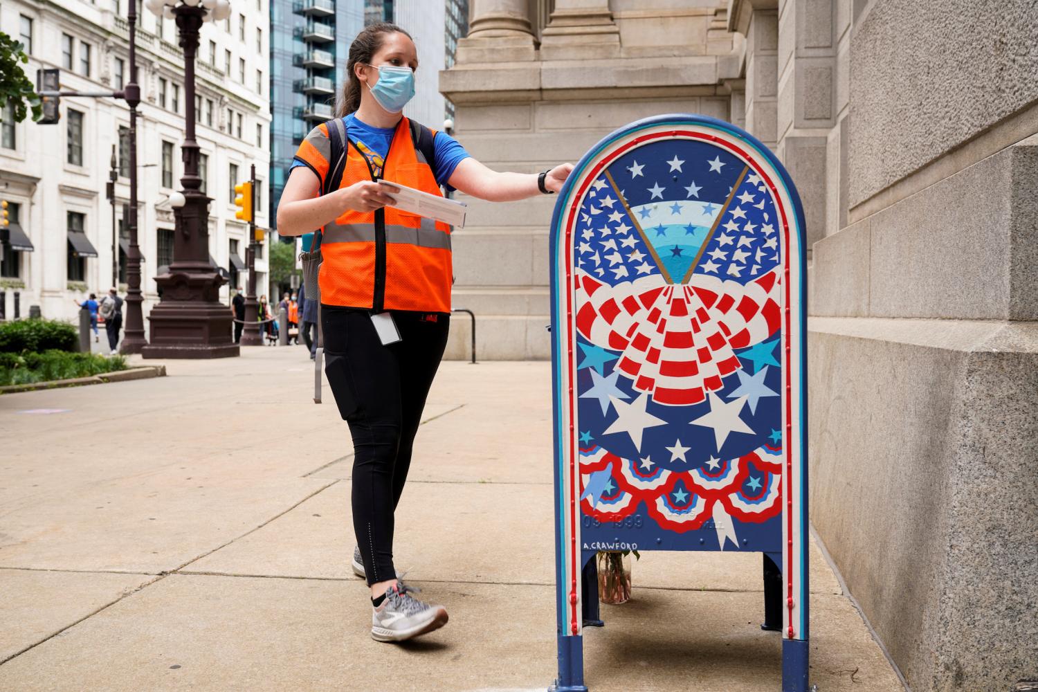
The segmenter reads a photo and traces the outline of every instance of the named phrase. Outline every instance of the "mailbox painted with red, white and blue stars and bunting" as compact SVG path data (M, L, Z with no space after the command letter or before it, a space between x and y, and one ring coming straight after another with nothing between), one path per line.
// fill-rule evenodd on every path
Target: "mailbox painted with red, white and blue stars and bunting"
M803 212L727 122L593 147L551 222L558 677L585 690L598 551L764 554L783 690L808 684Z

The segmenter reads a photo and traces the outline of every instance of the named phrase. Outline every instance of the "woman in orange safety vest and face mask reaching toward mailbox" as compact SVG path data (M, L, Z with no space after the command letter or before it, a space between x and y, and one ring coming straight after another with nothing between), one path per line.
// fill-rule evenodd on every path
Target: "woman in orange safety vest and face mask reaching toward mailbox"
M557 192L573 169L496 172L447 135L412 124L402 111L417 67L411 36L400 27L375 24L357 35L338 117L300 145L277 212L282 236L323 227L325 373L353 438L353 569L371 586L378 641L403 641L447 621L442 606L418 601L397 579L392 539L393 509L446 344L453 279L449 226L388 206L375 181L435 195L445 185L510 201ZM326 177L335 177L329 159L336 139L345 142L342 182L322 195Z

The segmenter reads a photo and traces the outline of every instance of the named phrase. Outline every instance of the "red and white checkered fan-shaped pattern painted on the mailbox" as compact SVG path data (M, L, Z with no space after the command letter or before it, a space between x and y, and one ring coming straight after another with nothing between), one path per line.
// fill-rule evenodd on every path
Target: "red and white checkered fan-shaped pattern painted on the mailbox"
M778 282L776 269L747 284L692 274L675 285L656 274L610 286L578 270L576 327L621 352L616 366L654 402L699 404L739 368L735 349L777 331Z

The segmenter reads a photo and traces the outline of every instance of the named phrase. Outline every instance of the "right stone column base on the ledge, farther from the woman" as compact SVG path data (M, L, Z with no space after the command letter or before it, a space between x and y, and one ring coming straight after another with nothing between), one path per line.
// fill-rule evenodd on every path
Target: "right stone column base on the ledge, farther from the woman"
M555 0L541 38L541 58L568 60L620 56L620 28L609 0Z

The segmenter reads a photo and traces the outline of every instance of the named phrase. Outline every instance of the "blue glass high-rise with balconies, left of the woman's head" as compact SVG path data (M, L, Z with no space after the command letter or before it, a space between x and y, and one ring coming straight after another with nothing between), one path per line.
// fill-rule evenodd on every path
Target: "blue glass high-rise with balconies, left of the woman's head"
M334 114L347 52L363 25L364 0L270 0L271 219L299 143Z

